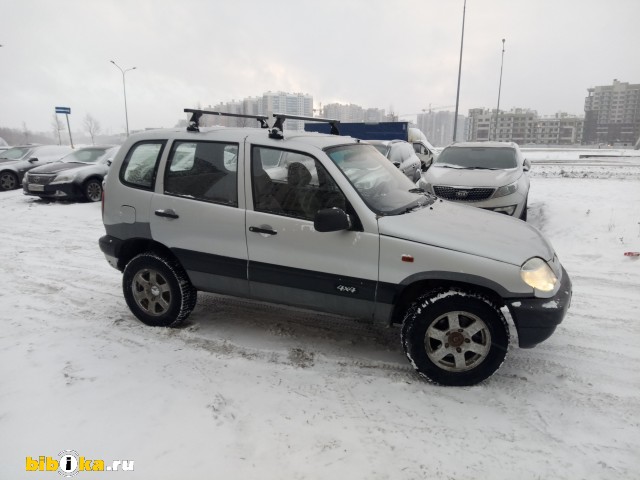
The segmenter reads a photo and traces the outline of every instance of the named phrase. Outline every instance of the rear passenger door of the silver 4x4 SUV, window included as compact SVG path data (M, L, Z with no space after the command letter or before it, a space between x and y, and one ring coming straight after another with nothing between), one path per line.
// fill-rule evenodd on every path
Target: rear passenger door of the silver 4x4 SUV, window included
M239 144L175 140L151 201L151 233L169 247L196 288L246 295L245 213Z

